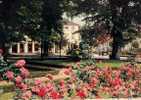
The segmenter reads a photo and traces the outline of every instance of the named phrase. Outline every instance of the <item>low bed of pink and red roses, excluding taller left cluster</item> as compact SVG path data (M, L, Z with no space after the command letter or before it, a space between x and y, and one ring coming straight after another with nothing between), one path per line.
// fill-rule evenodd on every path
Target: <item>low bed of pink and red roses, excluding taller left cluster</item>
M49 78L50 81L44 84L36 80L32 92L48 99L102 98L103 94L109 97L136 97L141 94L141 81L137 78L141 75L141 69L138 66L128 64L118 69L95 66L80 68L78 64L77 68L76 71L72 68L64 70L64 74L70 76L66 80L56 82Z

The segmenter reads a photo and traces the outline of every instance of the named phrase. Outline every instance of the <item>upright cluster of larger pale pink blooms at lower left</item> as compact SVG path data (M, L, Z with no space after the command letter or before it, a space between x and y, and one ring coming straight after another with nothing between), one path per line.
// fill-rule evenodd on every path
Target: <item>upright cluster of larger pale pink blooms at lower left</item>
M29 100L32 96L32 92L28 90L28 85L24 82L25 78L29 76L29 71L25 68L25 60L18 60L12 67L5 72L5 76L9 81L14 82L16 88L20 89L23 94L21 94L21 99ZM13 68L17 69L19 73L14 73Z

